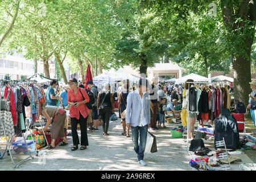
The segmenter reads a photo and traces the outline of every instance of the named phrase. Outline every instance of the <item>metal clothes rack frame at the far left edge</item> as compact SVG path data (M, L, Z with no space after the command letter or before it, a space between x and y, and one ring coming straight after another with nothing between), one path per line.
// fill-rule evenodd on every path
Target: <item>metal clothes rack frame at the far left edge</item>
M2 99L2 94L1 94L1 92L6 92L6 91L0 91L0 98ZM10 90L9 90L9 94L10 94ZM1 108L1 102L0 102L0 108ZM3 119L4 120L4 119ZM5 149L5 152L2 154L2 156L1 156L1 159L3 158L3 156L5 156L5 154L6 154L6 152L8 152L8 155L10 155L10 158L11 158L11 161L13 162L13 164L14 164L14 167L15 168L17 168L18 166L19 166L19 164L21 164L21 163L24 163L25 161L27 161L28 159L34 159L34 157L31 155L31 153L30 153L30 150L28 149L28 146L27 146L27 142L26 142L26 139L25 139L25 137L24 137L24 134L22 133L22 137L23 137L23 139L24 139L24 143L25 143L25 145L26 145L26 148L27 148L27 152L28 152L28 157L26 158L26 159L22 159L22 160L20 160L20 162L18 162L18 163L15 163L14 162L14 160L13 160L13 154L11 154L11 141L13 140L13 138L12 137L10 137L10 136L7 136L6 135L6 132L5 132L5 125L3 125L3 121L2 120L2 118L0 118L0 123L1 123L1 126L2 126L2 129L3 129L3 134L4 134L4 137L6 138L6 149Z

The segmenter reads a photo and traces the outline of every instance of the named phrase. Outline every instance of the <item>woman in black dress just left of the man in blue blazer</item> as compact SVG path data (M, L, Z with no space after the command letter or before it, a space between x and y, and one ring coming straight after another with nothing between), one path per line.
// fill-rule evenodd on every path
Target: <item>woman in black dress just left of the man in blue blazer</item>
M126 105L127 105L127 96L129 94L129 84L123 85L123 91L119 94L118 98L118 107L120 110L120 113L123 113L124 110L126 110ZM129 131L130 128L127 128L127 133L126 133L126 123L125 123L125 118L122 118L122 124L123 124L123 133L122 135L126 135L126 137L130 137Z

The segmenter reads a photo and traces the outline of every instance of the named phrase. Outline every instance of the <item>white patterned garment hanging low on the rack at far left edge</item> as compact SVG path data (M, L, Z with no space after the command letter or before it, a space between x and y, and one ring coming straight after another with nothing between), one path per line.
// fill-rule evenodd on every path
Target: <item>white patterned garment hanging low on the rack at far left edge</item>
M10 111L1 111L0 119L3 121L3 126L5 127L5 134L7 137L14 137L14 125L13 125L13 115ZM5 136L3 133L2 125L0 125L0 137Z

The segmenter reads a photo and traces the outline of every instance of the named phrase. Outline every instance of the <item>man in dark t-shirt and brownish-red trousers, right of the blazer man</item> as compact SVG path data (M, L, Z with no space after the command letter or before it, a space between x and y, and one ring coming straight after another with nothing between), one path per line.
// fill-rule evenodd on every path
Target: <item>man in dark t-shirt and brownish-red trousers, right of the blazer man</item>
M153 130L158 130L156 127L156 114L158 113L158 77L152 79L152 86L150 89L150 109L152 112L152 118L150 118L150 126Z

